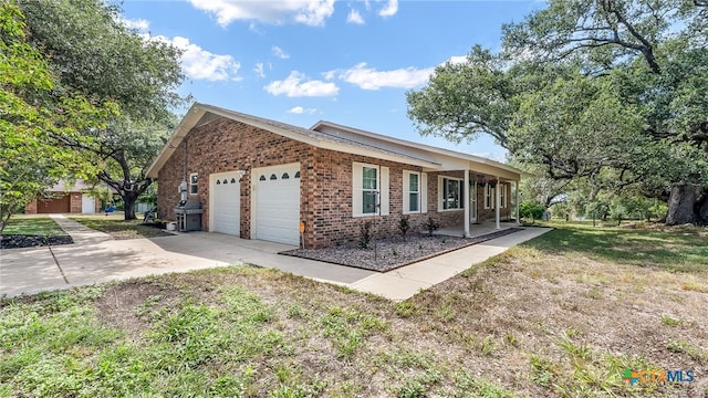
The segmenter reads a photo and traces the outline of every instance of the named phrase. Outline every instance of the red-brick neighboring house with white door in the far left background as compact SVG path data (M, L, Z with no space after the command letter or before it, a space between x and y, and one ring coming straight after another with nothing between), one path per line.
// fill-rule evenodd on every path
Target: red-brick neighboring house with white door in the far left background
M24 213L95 213L100 211L100 200L95 193L91 193L91 186L77 179L74 185L67 186L65 181L59 181L49 189L48 196L28 203Z

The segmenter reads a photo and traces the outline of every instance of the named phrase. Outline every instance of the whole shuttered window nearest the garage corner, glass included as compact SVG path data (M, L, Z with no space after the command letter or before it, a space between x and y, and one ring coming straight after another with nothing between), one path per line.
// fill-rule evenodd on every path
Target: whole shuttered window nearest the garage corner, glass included
M388 216L388 167L352 163L352 217Z

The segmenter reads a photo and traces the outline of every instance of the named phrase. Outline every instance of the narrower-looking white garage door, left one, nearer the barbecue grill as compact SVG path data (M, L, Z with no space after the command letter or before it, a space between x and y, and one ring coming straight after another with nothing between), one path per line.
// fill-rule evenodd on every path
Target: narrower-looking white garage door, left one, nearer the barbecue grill
M241 232L241 184L239 174L209 176L211 187L210 231L238 235Z

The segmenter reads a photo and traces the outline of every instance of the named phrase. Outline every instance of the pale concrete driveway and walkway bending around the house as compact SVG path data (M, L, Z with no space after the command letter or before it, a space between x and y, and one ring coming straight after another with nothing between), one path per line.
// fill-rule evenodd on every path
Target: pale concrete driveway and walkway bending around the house
M208 232L113 240L63 216L54 221L74 244L0 251L0 296L15 296L150 274L185 272L229 264L274 268L317 281L350 286L391 300L405 300L475 263L550 229L528 228L387 273L279 255L291 245Z

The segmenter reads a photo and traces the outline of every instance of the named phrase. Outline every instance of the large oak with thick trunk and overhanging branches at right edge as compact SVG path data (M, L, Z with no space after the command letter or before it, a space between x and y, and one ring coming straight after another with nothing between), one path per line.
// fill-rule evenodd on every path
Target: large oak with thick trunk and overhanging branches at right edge
M535 62L580 62L602 77L618 71L633 81L625 103L643 107L647 136L691 151L702 164L667 180L667 223L708 222L708 53L702 1L555 0L504 30L507 51ZM696 34L699 33L699 34ZM690 148L693 147L693 148ZM700 158L697 150L700 151ZM669 155L673 150L667 150ZM668 158L665 166L674 168ZM681 165L685 166L685 165ZM677 174L677 172L674 172Z

